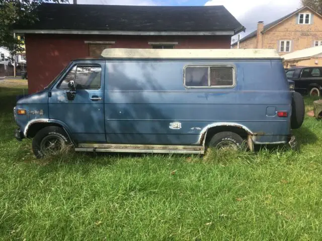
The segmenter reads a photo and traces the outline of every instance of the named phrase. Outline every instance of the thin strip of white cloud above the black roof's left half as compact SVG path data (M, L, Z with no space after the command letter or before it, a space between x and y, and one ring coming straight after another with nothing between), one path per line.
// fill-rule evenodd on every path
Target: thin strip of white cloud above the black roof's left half
M77 4L156 6L153 0L77 0Z

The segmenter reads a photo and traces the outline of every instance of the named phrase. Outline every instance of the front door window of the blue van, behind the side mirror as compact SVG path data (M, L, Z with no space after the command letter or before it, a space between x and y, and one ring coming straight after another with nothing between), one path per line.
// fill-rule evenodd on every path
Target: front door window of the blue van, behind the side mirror
M57 86L58 89L69 89L68 83L74 80L76 89L100 89L101 66L81 65L73 66Z

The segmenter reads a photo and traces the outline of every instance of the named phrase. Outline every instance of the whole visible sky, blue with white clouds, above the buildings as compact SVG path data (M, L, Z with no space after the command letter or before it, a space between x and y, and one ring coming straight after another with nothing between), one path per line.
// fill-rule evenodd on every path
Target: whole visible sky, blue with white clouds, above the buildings
M246 28L245 33L240 33L241 38L256 30L257 22L264 21L264 24L268 24L301 7L300 0L77 0L77 3L139 6L223 5Z

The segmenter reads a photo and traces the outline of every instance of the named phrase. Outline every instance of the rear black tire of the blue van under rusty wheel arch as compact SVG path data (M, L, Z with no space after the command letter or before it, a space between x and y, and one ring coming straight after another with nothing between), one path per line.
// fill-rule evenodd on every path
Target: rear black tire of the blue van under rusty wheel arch
M239 150L245 144L245 140L233 132L219 132L215 134L209 144L209 148L222 149L224 146L232 150Z

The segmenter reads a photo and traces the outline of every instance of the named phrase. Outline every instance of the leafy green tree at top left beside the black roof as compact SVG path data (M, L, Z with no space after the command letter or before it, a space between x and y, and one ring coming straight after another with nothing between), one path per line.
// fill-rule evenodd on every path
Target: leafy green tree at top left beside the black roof
M38 21L35 10L43 2L68 3L67 0L0 0L0 46L7 47L12 56L23 51L22 42L14 38L15 24Z

